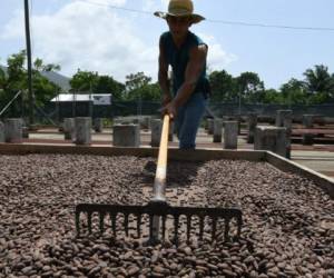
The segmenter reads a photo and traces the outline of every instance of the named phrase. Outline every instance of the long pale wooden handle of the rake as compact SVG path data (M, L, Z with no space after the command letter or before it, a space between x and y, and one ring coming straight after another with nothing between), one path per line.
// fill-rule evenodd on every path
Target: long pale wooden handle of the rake
M164 116L160 138L158 163L154 183L153 201L166 201L166 173L167 173L167 149L168 149L169 115Z

